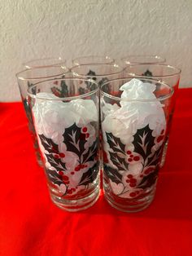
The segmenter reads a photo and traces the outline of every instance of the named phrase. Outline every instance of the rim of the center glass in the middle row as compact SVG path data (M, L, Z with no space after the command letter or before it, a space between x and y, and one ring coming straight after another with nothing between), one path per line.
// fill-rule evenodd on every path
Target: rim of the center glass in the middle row
M109 66L111 66L111 67L114 67L114 68L120 68L120 70L118 71L118 72L113 72L113 73L105 73L105 74L103 74L103 75L97 75L97 74L95 74L95 75L88 75L88 74L80 74L80 73L76 73L76 72L74 72L73 71L73 69L75 69L75 68L83 68L83 67L86 67L86 66L107 66L107 67L109 67ZM78 77L111 77L111 76L114 76L114 75L116 75L116 74L118 74L118 73L120 73L120 72L123 72L124 71L124 68L123 67L121 67L120 65L118 65L118 64L79 64L79 65L76 65L76 66L73 66L72 68L70 68L70 71L71 71L71 73L72 73L72 75L76 75L76 77L78 76Z

